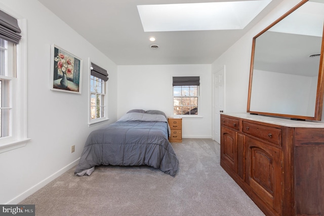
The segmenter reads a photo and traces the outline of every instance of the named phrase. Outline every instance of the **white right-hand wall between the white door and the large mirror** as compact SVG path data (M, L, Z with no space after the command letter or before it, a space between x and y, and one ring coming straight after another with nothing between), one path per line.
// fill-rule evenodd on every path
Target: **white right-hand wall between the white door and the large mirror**
M225 112L246 112L252 38L295 7L300 0L284 0L212 64L212 71L226 65Z

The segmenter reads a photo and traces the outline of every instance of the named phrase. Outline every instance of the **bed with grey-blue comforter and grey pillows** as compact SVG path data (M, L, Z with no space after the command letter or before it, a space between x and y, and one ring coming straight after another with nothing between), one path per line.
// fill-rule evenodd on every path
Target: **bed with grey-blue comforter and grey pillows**
M98 165L148 165L175 177L179 161L169 136L164 112L130 110L88 136L74 174L90 176Z

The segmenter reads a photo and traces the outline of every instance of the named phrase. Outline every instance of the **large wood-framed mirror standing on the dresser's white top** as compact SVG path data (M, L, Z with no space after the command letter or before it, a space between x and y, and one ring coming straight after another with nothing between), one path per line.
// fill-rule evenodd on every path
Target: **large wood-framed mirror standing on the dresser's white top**
M320 120L324 1L303 1L253 38L248 112Z

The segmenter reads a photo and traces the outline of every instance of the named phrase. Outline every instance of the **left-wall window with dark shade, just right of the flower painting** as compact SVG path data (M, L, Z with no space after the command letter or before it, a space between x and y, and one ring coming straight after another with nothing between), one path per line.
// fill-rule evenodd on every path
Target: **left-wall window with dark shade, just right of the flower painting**
M107 82L105 69L91 63L90 74L90 124L107 119Z

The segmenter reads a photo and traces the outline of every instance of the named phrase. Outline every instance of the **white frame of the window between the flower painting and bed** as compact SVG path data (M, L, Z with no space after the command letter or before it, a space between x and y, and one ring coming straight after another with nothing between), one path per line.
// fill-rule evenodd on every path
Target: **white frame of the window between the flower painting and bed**
M92 86L92 75L91 75L91 60L89 58L89 110L88 110L88 125L89 127L90 126L93 126L93 125L96 125L96 124L100 124L100 123L104 123L105 121L109 120L108 118L108 82L107 81L104 81L102 83L104 83L105 87L102 87L104 89L104 93L96 93L96 92L92 92L91 91L91 86ZM95 64L95 63L94 63ZM100 118L95 118L95 119L91 119L91 95L95 93L96 95L102 95L104 96L104 105L101 104L101 107L104 107L105 110L104 110L104 117L100 117Z

